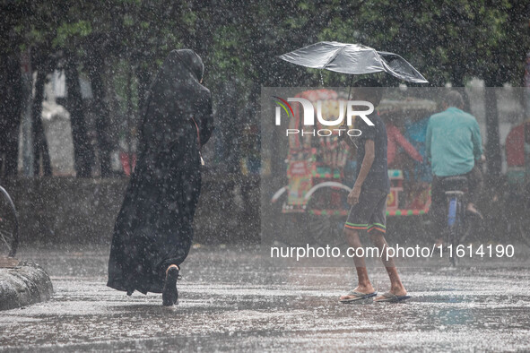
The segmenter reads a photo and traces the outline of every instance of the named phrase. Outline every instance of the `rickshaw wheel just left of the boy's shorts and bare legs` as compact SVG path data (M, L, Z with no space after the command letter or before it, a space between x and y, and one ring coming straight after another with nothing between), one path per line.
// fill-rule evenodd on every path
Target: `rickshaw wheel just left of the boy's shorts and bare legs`
M317 246L342 246L346 244L343 236L348 192L335 187L317 190L311 196L304 214L304 228L308 244ZM340 214L339 214L340 213Z

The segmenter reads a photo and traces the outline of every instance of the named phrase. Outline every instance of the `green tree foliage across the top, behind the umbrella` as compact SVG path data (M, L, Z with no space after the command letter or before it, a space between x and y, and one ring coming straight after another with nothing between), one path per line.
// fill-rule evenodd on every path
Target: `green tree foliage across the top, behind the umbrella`
M9 7L7 25L21 47L63 49L81 62L94 52L106 65L124 60L155 72L173 48L204 57L206 80L222 86L317 84L321 73L276 56L319 40L357 42L394 51L432 85L478 76L520 84L530 49L528 0L109 0L32 2ZM13 10L14 9L14 10ZM322 73L325 83L348 78Z

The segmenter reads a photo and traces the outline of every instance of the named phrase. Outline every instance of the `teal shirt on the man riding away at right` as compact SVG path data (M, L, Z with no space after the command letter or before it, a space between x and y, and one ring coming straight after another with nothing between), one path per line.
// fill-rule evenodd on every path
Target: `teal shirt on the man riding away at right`
M425 148L435 176L465 174L482 156L479 125L471 114L458 108L447 108L430 116Z

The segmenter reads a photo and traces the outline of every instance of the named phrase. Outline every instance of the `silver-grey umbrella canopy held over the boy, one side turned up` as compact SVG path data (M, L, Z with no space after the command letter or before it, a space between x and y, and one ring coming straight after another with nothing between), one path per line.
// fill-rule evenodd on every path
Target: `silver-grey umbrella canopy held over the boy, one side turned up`
M427 83L421 73L403 57L394 53L377 51L361 44L319 42L280 56L292 64L326 69L337 73L387 72L408 82Z

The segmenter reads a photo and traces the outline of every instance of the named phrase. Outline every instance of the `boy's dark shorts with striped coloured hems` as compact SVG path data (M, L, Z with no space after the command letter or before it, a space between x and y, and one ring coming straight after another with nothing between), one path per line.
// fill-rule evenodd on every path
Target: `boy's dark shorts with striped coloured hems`
M344 228L387 231L387 192L378 189L361 190L359 202L350 209Z

